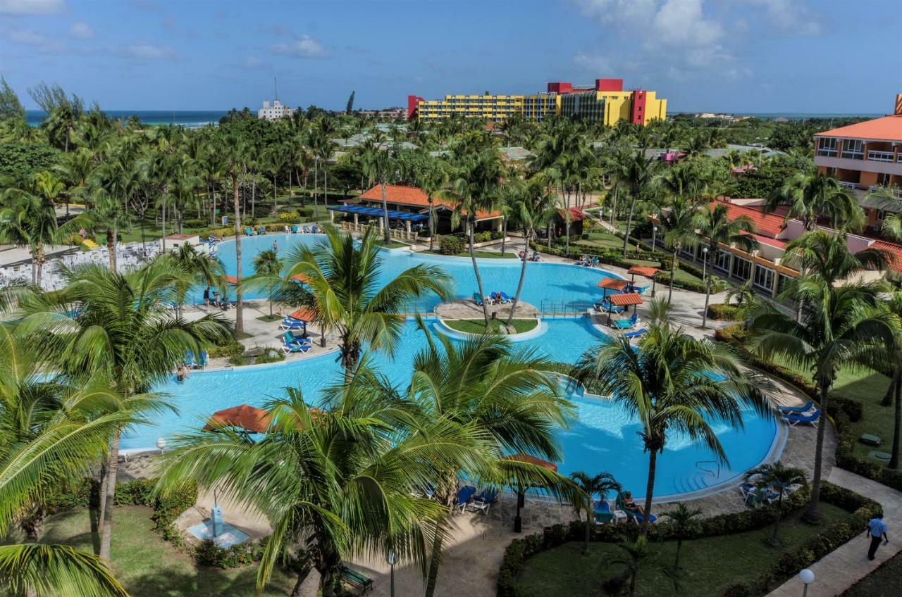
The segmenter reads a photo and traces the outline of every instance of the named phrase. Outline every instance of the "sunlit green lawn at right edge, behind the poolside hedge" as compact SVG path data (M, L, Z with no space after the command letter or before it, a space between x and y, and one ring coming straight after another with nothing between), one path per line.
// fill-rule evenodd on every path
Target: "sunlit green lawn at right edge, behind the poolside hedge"
M810 372L800 371L783 359L774 359L774 361L804 375L807 379L811 378ZM855 442L853 451L854 455L859 458L867 460L871 450L879 449L882 452L889 452L889 448L892 446L893 409L880 406L880 400L883 400L883 394L886 393L888 387L889 378L881 373L841 369L836 383L833 385L833 391L830 392L831 396L856 400L864 407L861 419L851 424L856 437L868 433L883 439L883 444L879 448Z

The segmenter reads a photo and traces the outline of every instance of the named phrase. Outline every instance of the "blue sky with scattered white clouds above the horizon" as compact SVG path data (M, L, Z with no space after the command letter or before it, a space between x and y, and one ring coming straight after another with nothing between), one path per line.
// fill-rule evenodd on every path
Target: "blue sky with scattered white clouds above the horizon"
M262 8L267 6L268 8ZM0 0L0 74L108 109L401 106L623 78L671 112L887 113L898 0Z

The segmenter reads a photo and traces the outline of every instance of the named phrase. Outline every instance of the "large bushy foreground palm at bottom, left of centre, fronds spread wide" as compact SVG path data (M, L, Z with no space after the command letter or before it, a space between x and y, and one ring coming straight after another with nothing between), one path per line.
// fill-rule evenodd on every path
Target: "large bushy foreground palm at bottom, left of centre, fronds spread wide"
M421 563L442 506L411 497L432 476L432 463L456 454L456 437L409 436L398 427L407 408L362 365L327 390L327 406L306 402L300 390L267 404L272 423L259 441L227 428L182 436L166 455L162 491L193 480L260 510L272 536L257 569L262 591L273 565L293 546L319 573L319 591L335 595L342 561L393 549L401 561ZM299 595L309 566L302 566Z

